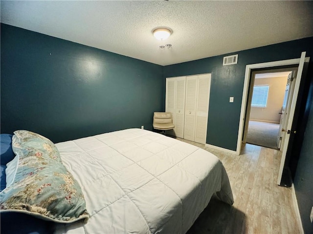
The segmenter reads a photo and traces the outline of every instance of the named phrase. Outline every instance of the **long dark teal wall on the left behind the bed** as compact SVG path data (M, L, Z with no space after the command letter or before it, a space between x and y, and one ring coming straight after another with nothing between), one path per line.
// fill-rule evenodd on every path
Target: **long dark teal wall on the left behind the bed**
M1 24L1 133L54 142L144 125L162 111L163 67Z

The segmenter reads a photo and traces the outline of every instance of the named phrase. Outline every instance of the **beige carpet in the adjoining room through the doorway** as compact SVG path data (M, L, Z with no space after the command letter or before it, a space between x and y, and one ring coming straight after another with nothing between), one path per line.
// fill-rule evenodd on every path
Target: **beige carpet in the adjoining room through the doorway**
M246 143L277 149L278 123L249 121Z

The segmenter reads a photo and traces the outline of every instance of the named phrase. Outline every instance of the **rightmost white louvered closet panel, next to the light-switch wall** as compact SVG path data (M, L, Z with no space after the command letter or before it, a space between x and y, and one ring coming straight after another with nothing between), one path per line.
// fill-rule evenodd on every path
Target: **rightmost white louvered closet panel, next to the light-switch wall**
M211 74L198 76L198 97L195 124L195 141L206 143L207 120L209 112Z

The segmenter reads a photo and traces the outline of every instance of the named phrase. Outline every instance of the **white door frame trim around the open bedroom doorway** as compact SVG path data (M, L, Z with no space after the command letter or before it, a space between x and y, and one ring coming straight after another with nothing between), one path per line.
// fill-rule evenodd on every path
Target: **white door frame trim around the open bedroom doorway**
M309 58L306 58L306 61L307 59ZM246 104L247 104L247 98L248 98L247 96L248 96L248 90L249 90L249 84L250 84L251 70L258 69L258 68L266 69L266 68L274 68L274 67L287 66L287 65L299 65L299 63L300 63L300 58L246 65L243 97L242 97L242 102L241 102L241 111L240 111L239 128L238 128L237 149L236 149L237 155L240 155L241 146L242 146L242 138L243 138L243 133L244 133L244 123L245 123L245 116L246 116ZM299 87L297 88L299 89Z

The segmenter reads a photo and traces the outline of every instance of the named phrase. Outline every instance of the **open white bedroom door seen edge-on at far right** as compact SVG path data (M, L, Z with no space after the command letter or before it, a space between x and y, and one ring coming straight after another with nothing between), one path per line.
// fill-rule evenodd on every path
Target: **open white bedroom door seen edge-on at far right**
M290 111L288 111L289 113L286 117L285 139L282 141L283 153L282 153L282 158L280 161L280 167L279 167L278 178L277 178L277 184L278 185L280 185L280 183L281 183L283 170L284 170L284 166L285 166L287 148L288 148L288 143L289 143L289 138L290 138L290 133L291 133L291 125L292 125L292 120L293 120L294 111L295 111L295 105L296 105L297 97L298 97L298 93L299 93L299 86L300 86L300 80L301 80L302 71L303 71L303 67L304 67L304 62L309 62L309 59L306 61L305 55L306 55L306 52L301 53L301 58L300 58L300 62L299 62L297 76L296 76L295 80L293 80L293 82L295 82L294 83L294 92L292 95L293 98L290 98L291 100L287 105L288 106L287 108L288 109L290 108Z

